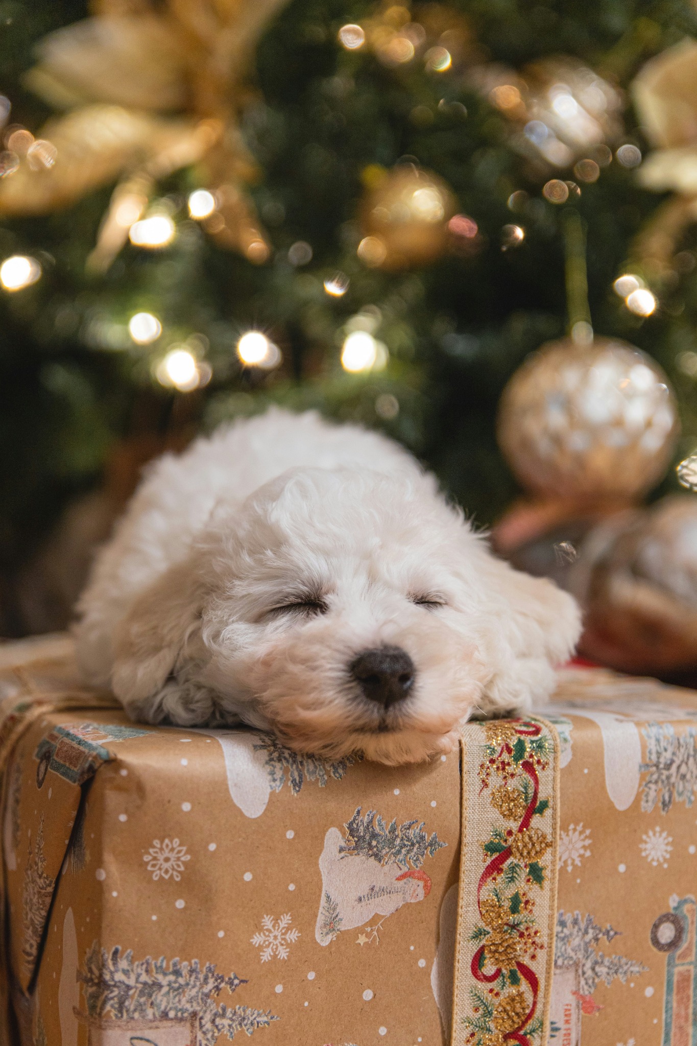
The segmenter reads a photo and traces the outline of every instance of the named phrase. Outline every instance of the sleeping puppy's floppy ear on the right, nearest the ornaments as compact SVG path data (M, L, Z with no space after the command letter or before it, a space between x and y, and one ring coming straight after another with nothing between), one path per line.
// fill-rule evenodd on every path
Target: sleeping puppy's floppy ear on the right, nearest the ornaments
M556 685L581 634L581 611L573 596L545 577L532 577L488 554L487 578L496 593L499 620L493 631L494 673L482 701L486 712L529 711Z

